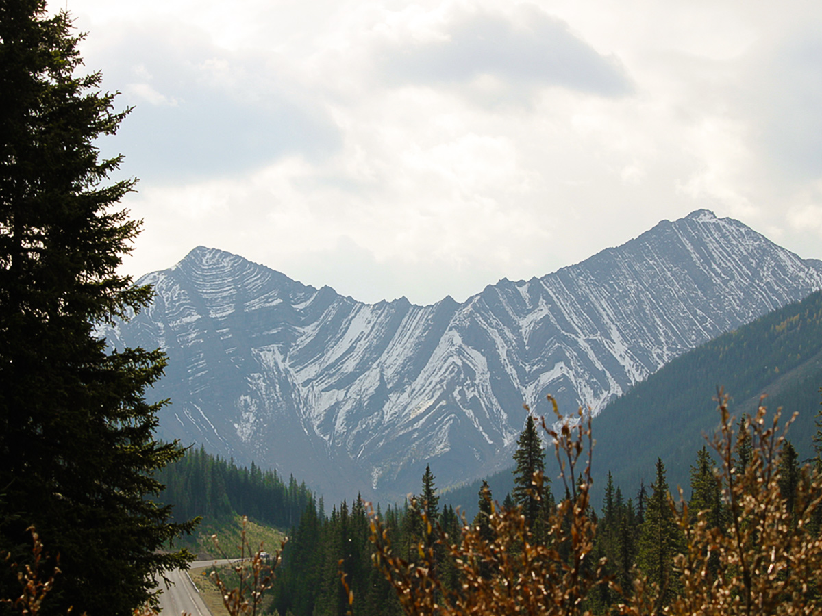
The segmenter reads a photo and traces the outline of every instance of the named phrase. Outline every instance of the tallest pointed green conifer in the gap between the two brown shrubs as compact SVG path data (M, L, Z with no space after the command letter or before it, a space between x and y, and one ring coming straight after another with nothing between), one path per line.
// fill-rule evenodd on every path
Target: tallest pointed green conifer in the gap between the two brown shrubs
M665 465L657 458L657 478L651 485L651 496L645 508L637 563L649 580L662 589L663 605L670 603L677 593L673 558L684 549L670 499Z

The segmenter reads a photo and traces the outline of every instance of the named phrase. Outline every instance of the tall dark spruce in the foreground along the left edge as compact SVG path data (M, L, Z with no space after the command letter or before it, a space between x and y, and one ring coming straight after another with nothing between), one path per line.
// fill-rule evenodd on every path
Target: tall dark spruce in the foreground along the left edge
M60 557L41 614L131 614L153 573L187 562L156 550L192 525L150 500L153 471L181 455L155 441L143 398L164 355L107 353L95 335L150 289L117 274L134 180L107 182L121 157L100 160L96 139L127 112L79 75L80 38L44 0L0 0L0 554L24 564L33 525L45 565ZM20 592L3 567L0 595Z

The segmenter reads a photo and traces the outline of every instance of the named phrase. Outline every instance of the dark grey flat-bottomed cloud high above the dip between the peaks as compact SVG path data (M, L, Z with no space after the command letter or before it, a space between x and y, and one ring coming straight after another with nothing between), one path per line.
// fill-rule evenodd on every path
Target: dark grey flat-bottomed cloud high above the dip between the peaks
M399 83L459 83L490 74L520 85L556 85L603 96L633 90L615 57L597 53L565 22L537 7L522 11L527 11L527 27L489 13L458 16L448 40L386 48L381 71Z

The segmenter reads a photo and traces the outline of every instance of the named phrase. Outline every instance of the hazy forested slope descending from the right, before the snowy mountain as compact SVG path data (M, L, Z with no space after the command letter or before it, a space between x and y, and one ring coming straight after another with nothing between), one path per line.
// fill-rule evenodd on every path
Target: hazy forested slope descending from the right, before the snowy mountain
M783 408L783 421L797 412L787 437L800 460L815 456L811 438L822 401L822 292L677 357L605 407L593 421L593 502L602 498L608 471L626 498L635 496L640 481L646 486L653 481L657 457L667 467L672 490L686 488L694 452L718 427L713 400L718 387L731 396L729 407L737 417L755 415L762 394L770 411ZM500 501L514 486L510 471L491 476L488 483ZM453 490L443 501L473 516L480 485L478 480Z

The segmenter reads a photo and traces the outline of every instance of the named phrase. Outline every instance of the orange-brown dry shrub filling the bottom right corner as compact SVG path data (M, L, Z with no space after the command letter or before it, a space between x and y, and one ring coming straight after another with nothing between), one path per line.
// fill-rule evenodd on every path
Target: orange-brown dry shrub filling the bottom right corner
M706 513L691 515L680 498L677 519L686 536L685 554L675 567L682 591L669 606L656 605L656 589L640 576L624 614L822 614L822 540L815 521L822 499L816 467L801 469L793 510L779 486L779 454L792 423L779 425L779 412L766 420L760 406L736 434L720 392L722 421L711 441L730 522L711 528ZM794 416L796 417L796 416ZM741 468L739 450L750 438L750 462Z

